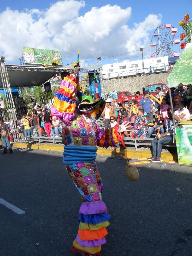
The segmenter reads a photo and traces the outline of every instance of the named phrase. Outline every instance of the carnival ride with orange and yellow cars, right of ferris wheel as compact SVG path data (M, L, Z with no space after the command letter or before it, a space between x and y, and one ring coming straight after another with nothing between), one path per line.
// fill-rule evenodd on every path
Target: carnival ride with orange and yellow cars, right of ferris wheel
M189 14L184 16L184 19L179 22L179 26L182 27L184 33L180 34L181 49L184 49L187 43L192 42L192 20L190 20ZM182 40L184 40L182 42Z

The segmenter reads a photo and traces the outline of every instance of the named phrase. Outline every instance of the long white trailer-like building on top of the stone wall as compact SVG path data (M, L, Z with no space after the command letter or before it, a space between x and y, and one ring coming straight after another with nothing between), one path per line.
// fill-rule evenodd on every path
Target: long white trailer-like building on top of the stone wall
M150 66L153 73L169 70L168 56L159 58L144 59L144 73L150 73ZM124 60L121 63L105 64L103 67L104 79L120 78L143 74L142 60Z

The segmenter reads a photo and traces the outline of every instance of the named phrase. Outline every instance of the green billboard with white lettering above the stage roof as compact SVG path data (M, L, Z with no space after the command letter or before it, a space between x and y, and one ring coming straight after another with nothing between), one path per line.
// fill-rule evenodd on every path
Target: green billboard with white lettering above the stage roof
M45 64L52 65L52 60L58 61L58 66L63 66L60 51L43 50L36 48L23 47L25 64Z

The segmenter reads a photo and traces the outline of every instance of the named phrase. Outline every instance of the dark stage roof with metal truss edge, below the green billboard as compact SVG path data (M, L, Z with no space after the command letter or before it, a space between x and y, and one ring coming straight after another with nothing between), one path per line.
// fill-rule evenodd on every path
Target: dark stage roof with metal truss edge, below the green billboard
M46 68L43 66L7 65L11 88L39 86L53 78L59 72L74 72L74 70L74 68L63 67ZM80 72L94 73L93 69L81 69ZM1 76L0 88L3 88Z

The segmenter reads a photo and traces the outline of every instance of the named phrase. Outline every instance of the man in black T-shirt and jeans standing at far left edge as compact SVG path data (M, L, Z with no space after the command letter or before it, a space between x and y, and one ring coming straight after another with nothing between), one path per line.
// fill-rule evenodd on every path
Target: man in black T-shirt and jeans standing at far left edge
M9 142L9 127L4 123L3 119L0 119L0 129L1 129L1 140L3 143L4 151L2 154L7 154L7 147L9 148L9 154L13 153L11 144Z

